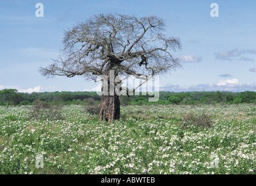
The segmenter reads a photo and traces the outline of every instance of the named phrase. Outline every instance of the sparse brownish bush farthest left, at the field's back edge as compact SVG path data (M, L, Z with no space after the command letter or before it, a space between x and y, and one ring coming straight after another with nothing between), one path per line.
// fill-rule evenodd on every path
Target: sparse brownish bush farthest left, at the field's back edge
M32 108L29 111L29 119L61 120L63 119L62 108L62 105L36 100L33 102Z

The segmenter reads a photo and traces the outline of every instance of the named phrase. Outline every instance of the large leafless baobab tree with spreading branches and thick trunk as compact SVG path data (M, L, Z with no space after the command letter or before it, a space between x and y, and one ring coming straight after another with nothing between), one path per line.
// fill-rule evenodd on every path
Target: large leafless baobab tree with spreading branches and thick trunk
M65 31L59 58L48 67L40 67L40 73L46 77L84 76L94 81L106 77L108 91L101 94L99 120L120 119L119 95L109 91L123 81L113 81L115 77L141 78L142 85L156 74L180 67L178 59L171 55L181 49L180 39L164 35L165 27L163 19L156 16L94 15ZM128 94L135 88L124 86L120 90Z

